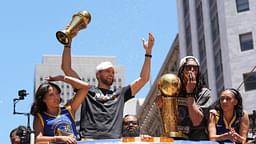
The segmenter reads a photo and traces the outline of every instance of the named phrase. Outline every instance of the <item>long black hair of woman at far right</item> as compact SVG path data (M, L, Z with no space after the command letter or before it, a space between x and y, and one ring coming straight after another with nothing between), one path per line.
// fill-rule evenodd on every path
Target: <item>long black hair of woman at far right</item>
M243 100L242 100L242 96L241 96L240 92L238 90L234 89L234 88L226 88L222 92L227 91L227 90L230 91L233 94L233 96L235 97L235 99L237 100L237 104L234 107L234 111L236 113L236 116L238 118L242 117L243 116ZM216 109L217 111L223 112L223 110L220 106L220 97L213 104L212 108Z

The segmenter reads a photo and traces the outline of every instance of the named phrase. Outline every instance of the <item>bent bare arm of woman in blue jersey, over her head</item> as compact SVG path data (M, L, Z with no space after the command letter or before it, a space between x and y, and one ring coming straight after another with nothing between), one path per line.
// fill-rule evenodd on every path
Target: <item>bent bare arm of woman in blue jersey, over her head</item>
M54 76L48 79L49 81L63 81L66 83L71 84L75 89L77 89L75 96L73 99L68 103L71 106L72 113L75 114L76 110L83 102L84 98L88 92L88 84L84 81L81 81L77 78L70 77L70 76Z

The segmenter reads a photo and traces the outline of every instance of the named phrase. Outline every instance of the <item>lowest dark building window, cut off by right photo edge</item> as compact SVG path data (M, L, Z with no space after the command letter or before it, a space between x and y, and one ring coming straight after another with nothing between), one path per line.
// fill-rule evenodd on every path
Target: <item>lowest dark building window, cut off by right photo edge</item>
M243 74L245 91L256 89L256 72Z

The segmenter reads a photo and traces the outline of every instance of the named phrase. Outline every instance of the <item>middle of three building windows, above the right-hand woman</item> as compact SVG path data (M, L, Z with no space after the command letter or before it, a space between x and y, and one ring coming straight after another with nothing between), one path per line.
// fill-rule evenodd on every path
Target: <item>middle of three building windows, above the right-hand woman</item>
M252 33L245 33L239 35L241 51L253 49Z

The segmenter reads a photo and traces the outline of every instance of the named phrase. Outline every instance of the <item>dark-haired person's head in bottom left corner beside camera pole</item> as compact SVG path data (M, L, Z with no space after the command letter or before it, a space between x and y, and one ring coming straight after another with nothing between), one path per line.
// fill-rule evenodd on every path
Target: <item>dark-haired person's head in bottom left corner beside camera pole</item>
M11 144L28 144L30 143L30 131L25 126L18 126L10 132Z

